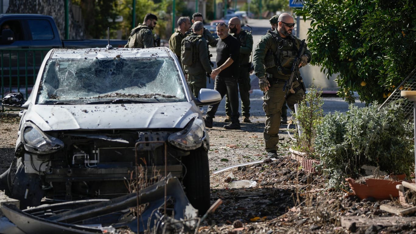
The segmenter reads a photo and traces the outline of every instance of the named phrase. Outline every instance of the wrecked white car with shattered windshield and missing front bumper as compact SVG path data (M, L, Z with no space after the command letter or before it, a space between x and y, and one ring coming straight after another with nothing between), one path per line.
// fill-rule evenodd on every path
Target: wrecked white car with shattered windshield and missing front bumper
M199 106L221 97L208 89L193 97L166 47L52 49L28 100L19 96L3 99L22 111L17 163L1 175L0 189L21 208L44 197L119 197L129 193L136 164L148 178L155 169L180 178L200 214L209 208L209 139Z

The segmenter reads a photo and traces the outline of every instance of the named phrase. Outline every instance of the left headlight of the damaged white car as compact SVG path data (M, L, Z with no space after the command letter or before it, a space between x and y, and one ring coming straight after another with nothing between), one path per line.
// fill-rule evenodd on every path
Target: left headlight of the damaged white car
M50 154L64 147L64 142L42 132L32 122L23 125L22 143L28 152L36 154Z

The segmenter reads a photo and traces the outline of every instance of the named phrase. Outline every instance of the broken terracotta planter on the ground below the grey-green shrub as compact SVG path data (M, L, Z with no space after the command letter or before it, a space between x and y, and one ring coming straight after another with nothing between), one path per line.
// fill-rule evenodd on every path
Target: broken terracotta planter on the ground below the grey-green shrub
M355 183L354 179L345 179L349 187L351 187L357 197L365 199L374 197L376 200L390 199L391 197L399 197L399 190L396 189L399 181L391 181L388 179L366 179L365 184Z

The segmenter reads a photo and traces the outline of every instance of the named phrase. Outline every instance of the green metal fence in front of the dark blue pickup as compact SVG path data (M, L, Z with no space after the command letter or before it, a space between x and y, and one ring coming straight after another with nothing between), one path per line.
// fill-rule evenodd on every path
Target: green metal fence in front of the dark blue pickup
M1 97L11 92L22 92L27 98L35 84L42 60L49 50L0 49Z

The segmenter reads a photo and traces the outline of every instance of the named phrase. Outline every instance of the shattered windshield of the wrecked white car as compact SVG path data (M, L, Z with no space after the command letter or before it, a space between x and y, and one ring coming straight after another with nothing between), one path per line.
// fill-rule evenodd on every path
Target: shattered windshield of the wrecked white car
M187 101L172 58L59 58L47 61L37 104Z

